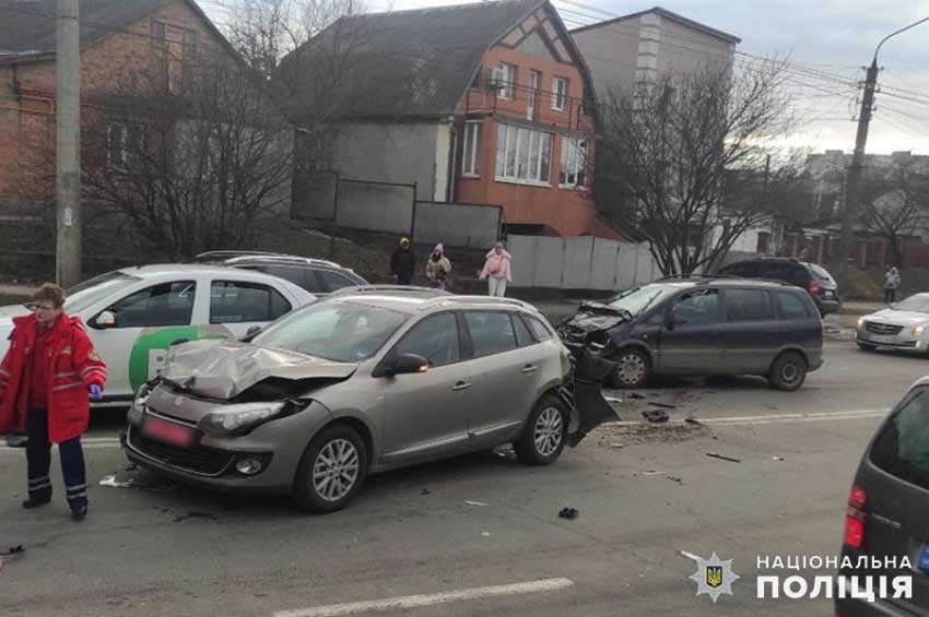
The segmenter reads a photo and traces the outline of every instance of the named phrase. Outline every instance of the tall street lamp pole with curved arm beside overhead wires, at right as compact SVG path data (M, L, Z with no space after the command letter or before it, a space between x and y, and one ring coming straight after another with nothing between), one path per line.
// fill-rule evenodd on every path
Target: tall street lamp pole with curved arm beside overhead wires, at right
M865 168L865 144L868 142L868 126L871 123L871 108L874 105L874 90L878 84L878 52L890 38L925 22L929 22L929 17L924 17L882 38L874 49L874 58L871 60L871 66L868 67L868 75L865 79L865 96L861 98L861 111L858 115L858 134L855 138L855 154L851 155L851 165L848 167L848 180L845 188L845 207L842 210L842 236L839 237L838 254L836 257L838 280L842 282L844 289L848 289L848 253L851 252L851 241L855 237L855 221L858 215L858 202L861 199L861 171Z

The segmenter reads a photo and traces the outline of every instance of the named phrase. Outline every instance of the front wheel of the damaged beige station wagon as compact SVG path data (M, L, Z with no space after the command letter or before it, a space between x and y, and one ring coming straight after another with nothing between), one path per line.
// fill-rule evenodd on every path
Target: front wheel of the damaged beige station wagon
M315 514L341 510L364 484L367 463L367 449L357 431L344 424L330 425L313 438L303 453L294 478L293 500Z

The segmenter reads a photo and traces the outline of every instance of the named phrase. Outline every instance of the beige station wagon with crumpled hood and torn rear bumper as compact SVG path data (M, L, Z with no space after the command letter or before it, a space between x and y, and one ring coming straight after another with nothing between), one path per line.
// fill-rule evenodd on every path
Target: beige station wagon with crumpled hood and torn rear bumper
M545 465L616 417L600 393L610 368L577 377L519 300L360 287L252 336L172 348L129 413L131 461L331 512L369 473L509 442Z

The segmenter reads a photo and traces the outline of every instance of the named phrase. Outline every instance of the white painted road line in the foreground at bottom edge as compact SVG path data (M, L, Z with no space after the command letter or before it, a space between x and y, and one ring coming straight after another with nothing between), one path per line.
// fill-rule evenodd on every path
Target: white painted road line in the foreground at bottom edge
M440 593L404 595L399 597L387 597L384 600L369 600L365 602L349 602L345 604L330 604L327 606L297 608L294 610L280 610L274 613L273 617L339 617L341 615L361 615L363 613L385 610L405 610L422 606L435 606L437 604L482 600L485 597L497 597L501 595L557 591L569 588L573 584L574 581L571 579L542 579L539 581L527 581L525 583L513 583L508 585L471 588Z

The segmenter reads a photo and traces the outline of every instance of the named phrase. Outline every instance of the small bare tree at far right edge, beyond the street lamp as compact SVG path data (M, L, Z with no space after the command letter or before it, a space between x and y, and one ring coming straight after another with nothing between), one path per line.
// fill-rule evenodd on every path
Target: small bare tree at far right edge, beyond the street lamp
M893 162L871 168L865 178L862 214L867 229L880 234L891 249L894 265L904 268L907 239L929 229L929 175L913 162Z

